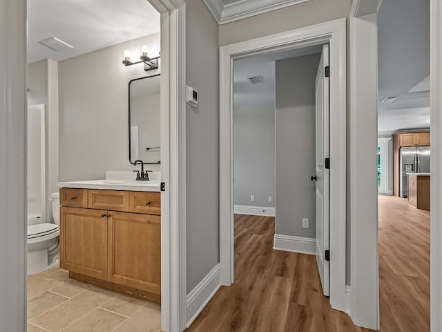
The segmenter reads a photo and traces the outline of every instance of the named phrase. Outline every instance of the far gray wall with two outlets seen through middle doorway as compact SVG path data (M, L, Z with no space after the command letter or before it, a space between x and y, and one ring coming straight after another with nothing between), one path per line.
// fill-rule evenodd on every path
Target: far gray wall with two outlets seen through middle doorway
M275 206L274 104L233 107L233 176L235 205Z

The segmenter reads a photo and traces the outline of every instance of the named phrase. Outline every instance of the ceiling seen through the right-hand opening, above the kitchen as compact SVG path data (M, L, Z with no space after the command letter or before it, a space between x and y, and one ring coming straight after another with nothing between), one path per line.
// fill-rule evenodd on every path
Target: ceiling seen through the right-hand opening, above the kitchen
M383 103L387 97L396 97ZM378 11L378 131L430 127L430 0L383 0Z

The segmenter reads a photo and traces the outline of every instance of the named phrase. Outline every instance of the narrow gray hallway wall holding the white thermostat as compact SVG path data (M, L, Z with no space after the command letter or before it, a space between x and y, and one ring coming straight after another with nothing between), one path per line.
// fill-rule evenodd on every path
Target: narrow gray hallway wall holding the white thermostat
M186 0L186 80L200 93L186 107L189 293L220 261L218 24L202 0Z

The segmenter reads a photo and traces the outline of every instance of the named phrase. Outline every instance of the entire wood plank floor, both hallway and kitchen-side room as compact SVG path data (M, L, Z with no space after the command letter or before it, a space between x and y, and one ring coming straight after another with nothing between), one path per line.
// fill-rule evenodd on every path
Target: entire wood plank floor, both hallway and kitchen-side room
M322 295L314 256L273 250L274 218L235 216L236 282L186 331L366 332ZM379 196L381 331L430 331L430 213Z

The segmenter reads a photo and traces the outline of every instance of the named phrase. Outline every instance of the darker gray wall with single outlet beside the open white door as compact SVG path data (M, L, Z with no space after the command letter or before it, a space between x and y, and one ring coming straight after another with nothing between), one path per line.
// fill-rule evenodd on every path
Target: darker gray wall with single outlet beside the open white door
M276 234L316 237L315 79L320 54L276 62ZM302 228L302 218L309 228Z

